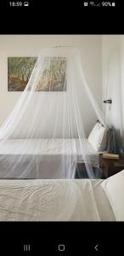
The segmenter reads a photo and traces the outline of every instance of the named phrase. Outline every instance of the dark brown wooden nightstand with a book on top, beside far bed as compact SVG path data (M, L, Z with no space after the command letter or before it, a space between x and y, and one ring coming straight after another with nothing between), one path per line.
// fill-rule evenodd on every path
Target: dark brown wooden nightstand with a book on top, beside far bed
M105 159L103 154L99 154L99 167L104 172L105 178L110 177L124 169L124 159L122 157L119 160Z

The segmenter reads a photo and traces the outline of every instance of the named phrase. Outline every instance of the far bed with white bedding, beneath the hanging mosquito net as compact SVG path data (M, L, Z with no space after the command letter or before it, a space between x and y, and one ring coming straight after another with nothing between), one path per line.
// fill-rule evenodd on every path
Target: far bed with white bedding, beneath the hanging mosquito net
M59 177L58 170L62 155L70 154L70 148L73 148L72 155L75 155L76 162L82 163L82 148L85 148L92 166L99 166L99 153L96 152L87 139L8 139L0 143L0 177L4 177L6 161L18 163L16 170L18 172L10 173L10 177L20 177L25 170L25 166L33 162L30 168L30 174L27 178L55 178ZM81 143L81 144L80 144ZM20 160L21 156L23 159ZM37 164L38 163L38 164ZM45 170L45 172L42 172ZM61 178L61 177L60 177Z

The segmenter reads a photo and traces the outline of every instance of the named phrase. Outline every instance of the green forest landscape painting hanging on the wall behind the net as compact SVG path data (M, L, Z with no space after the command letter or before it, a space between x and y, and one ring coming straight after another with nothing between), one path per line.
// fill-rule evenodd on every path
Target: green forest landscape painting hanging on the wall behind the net
M37 57L8 57L8 91L22 91L28 83ZM28 90L31 90L30 86ZM36 91L66 90L66 59L46 58Z

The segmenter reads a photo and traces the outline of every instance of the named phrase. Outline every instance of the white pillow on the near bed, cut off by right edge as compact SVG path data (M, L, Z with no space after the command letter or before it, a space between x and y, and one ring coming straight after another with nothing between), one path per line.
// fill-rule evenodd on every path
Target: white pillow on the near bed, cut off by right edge
M101 183L117 221L124 221L124 170Z

